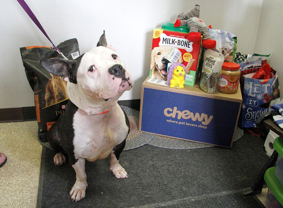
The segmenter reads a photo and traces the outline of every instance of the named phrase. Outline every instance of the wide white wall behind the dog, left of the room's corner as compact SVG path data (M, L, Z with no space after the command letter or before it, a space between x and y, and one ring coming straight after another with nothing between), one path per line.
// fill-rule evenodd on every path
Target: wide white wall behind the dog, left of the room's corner
M140 98L141 83L149 73L153 28L175 21L179 13L199 4L200 18L207 25L236 34L237 51L253 53L262 4L262 0L26 2L56 45L77 38L80 52L85 53L96 46L103 29L106 30L108 43L124 60L135 84L120 100ZM33 106L33 92L24 73L19 48L51 44L17 1L2 1L0 19L0 108Z

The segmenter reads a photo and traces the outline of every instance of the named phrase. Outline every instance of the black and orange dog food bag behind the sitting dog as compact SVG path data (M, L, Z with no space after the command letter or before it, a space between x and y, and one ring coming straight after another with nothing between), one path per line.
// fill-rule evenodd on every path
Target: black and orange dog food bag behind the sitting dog
M57 47L70 60L80 55L78 41L75 38L64 41ZM61 77L47 72L40 65L40 60L62 57L54 48L48 46L27 46L20 48L20 52L27 80L34 92L38 137L45 142L45 133L65 111L68 95L67 83Z

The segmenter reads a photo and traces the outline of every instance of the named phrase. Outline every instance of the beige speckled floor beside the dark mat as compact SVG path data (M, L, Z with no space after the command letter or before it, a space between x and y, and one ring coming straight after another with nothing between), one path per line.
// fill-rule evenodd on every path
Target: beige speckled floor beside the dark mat
M42 146L37 122L0 123L0 207L36 207ZM267 188L256 196L265 205Z

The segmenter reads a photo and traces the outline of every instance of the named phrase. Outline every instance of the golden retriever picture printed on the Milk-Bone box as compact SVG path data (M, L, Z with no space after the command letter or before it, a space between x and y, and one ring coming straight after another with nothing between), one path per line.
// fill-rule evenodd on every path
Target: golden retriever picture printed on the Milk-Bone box
M161 80L167 80L167 64L170 63L166 58L166 54L172 48L171 46L155 47L151 51L150 69L152 70L151 77ZM183 63L180 56L176 63Z

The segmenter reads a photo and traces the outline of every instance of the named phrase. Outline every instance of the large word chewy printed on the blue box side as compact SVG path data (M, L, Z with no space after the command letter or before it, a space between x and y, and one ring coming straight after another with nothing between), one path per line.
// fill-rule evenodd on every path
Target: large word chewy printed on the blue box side
M201 121L203 125L208 125L210 121L213 119L213 115L210 115L208 118L207 114L202 113L201 115L199 113L192 113L189 110L177 110L177 107L172 108L165 108L163 111L164 115L167 117L175 118L177 114L178 119L192 119L192 121Z

